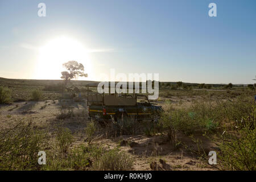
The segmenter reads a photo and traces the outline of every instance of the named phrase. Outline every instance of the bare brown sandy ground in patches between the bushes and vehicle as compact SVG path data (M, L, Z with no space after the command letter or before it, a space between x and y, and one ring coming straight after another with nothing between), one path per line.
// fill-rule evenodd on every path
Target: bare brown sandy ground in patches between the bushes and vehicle
M179 98L168 98L171 102L178 103ZM189 104L191 98L183 98L184 104ZM159 101L160 105L164 105L164 100ZM71 106L75 117L65 119L62 122L64 127L68 127L74 137L71 147L78 144L86 144L80 131L86 126L88 121L88 106L86 101L27 101L14 102L12 105L0 105L0 127L10 127L15 125L20 119L30 118L35 127L53 128L60 121L56 119L56 115L60 113L61 105ZM177 106L179 106L177 104ZM51 130L50 130L51 132ZM195 136L202 140L203 148L206 152L214 150L214 144L204 139L201 135ZM145 135L123 135L114 139L98 138L94 143L102 144L102 146L114 148L120 146L120 141L124 141L120 148L129 153L135 159L134 170L215 170L209 164L197 159L197 155L192 154L191 150L197 149L197 145L192 142L191 138L179 134L177 139L187 144L174 148L172 143L166 142L161 136L146 137ZM126 144L130 143L129 145ZM207 153L208 154L208 153Z

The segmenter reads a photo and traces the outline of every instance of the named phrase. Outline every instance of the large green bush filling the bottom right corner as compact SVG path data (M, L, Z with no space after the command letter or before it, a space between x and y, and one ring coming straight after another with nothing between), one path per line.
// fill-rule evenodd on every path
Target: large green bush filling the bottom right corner
M256 109L256 107L255 107ZM217 156L220 159L221 168L228 170L256 170L256 121L247 117L243 120L245 126L242 128L233 124L232 129L221 135L217 141L220 142L220 152ZM253 119L252 121L249 121ZM253 125L252 125L253 123Z

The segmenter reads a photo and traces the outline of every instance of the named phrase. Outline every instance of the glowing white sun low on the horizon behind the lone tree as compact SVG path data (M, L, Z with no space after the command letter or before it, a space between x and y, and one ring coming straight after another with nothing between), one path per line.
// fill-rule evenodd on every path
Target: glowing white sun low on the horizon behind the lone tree
M64 71L62 64L75 60L84 65L88 80L91 80L92 64L88 56L86 48L74 39L64 36L53 39L39 49L36 78L59 80L61 71Z

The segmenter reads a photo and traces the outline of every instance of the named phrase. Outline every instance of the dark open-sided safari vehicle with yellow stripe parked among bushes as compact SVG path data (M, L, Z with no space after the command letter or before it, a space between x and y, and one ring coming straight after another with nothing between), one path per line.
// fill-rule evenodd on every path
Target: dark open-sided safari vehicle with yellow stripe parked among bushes
M146 95L142 94L99 94L88 93L87 105L89 118L95 120L117 121L122 117L135 119L150 119L157 121L162 113L162 106L150 103Z

